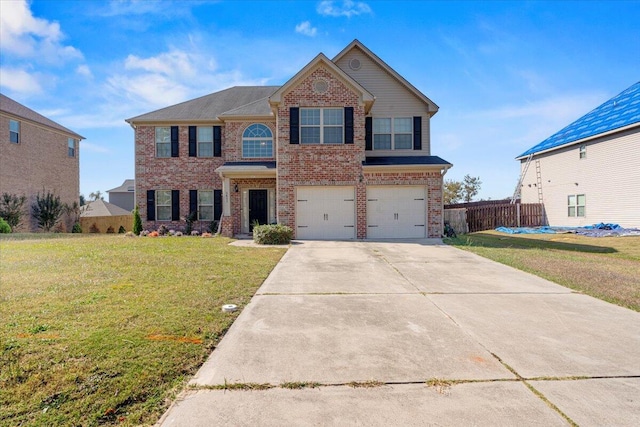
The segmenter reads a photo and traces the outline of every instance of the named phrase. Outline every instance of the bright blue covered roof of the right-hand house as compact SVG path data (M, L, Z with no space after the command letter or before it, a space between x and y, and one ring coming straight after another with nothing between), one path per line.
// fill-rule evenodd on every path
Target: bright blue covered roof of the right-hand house
M520 154L516 159L570 144L578 144L585 139L637 124L640 124L640 82Z

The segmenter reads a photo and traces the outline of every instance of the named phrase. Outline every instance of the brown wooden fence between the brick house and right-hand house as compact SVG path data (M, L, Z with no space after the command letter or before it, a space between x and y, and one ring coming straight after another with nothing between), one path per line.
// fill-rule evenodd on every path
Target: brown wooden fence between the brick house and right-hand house
M448 214L448 211L466 211L466 230L461 226L459 212ZM465 208L449 209L445 207L445 221L457 233L493 230L498 227L539 227L546 225L544 205L542 203L473 203ZM452 220L448 220L447 218Z

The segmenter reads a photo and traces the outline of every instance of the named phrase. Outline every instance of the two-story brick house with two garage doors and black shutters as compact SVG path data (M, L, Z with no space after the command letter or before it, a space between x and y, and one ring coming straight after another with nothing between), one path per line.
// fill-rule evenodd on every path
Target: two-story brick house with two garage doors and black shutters
M283 86L232 87L127 122L146 228L196 212L226 236L280 223L298 239L440 237L438 106L362 43Z

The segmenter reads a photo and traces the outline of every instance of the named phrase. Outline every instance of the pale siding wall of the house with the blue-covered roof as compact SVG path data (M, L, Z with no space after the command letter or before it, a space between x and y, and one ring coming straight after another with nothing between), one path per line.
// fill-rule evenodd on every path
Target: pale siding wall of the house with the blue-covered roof
M640 228L640 126L585 143L584 159L580 159L580 145L534 157L523 181L523 203L538 202L534 186L537 158L550 225L575 227L605 222ZM521 163L521 169L523 166ZM586 196L584 217L567 215L567 197L571 194Z

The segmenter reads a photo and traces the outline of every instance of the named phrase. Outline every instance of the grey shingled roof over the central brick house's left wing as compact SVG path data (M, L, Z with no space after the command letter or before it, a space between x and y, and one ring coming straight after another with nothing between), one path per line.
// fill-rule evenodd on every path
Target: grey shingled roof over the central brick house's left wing
M271 95L279 86L234 86L200 98L127 119L138 122L197 122L218 120L223 113L255 103ZM269 105L267 104L267 109Z

